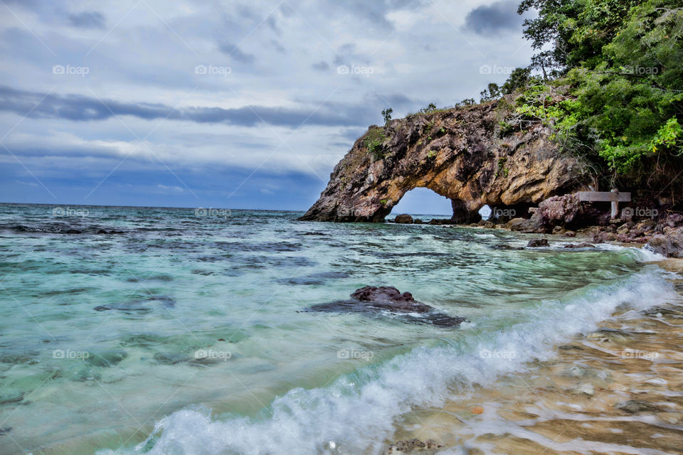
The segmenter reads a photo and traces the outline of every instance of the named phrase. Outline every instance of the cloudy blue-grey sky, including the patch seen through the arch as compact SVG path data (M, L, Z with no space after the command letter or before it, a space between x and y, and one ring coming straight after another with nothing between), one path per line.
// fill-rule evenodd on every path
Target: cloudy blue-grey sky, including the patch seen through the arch
M306 210L382 109L478 100L526 66L516 10L0 0L0 202ZM449 207L418 188L394 212Z

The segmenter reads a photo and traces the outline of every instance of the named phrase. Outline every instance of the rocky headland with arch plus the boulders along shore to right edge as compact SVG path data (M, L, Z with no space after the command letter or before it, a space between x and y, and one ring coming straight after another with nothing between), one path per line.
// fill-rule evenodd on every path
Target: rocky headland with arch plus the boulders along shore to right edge
M556 102L562 100L556 95ZM330 174L327 188L300 220L381 223L413 188L430 188L451 200L451 218L432 225L479 225L519 232L583 234L593 242L647 245L683 257L683 216L666 198L622 204L579 200L592 190L588 167L563 154L551 127L530 124L511 131L508 100L437 109L371 126ZM479 210L489 205L492 216ZM397 215L401 224L422 224Z

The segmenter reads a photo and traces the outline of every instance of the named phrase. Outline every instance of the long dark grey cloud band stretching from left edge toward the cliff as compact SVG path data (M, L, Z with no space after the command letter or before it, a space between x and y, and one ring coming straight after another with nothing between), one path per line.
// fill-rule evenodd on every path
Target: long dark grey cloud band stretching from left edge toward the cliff
M298 127L302 123L349 127L368 124L374 120L371 112L364 107L333 102L324 103L315 111L314 108L308 107L264 106L173 109L162 104L144 102L100 101L95 97L83 95L45 95L6 86L0 86L0 111L14 112L29 118L67 119L75 122L132 116L139 119L168 118L184 122L221 123L243 127L253 127L263 122L280 127ZM26 114L27 112L29 113Z

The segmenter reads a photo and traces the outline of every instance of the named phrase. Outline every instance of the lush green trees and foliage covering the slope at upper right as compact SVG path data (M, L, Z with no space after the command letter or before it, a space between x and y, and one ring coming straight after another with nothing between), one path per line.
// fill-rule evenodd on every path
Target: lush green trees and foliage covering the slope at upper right
M683 171L681 1L523 0L519 13L531 9L524 36L546 50L482 92L514 94L501 129L552 127L605 184L672 183Z

